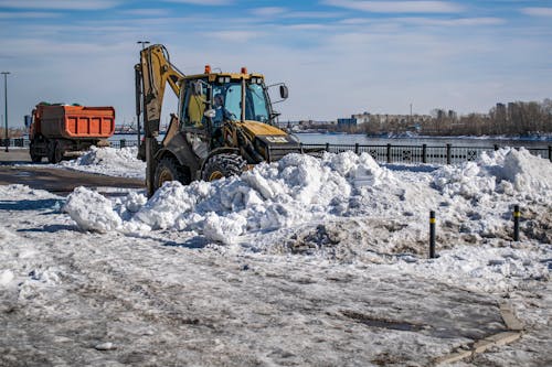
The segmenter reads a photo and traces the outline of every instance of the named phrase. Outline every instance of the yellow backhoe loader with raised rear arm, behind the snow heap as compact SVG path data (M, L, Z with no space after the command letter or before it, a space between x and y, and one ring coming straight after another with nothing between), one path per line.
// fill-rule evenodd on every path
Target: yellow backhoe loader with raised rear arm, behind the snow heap
M259 162L274 162L290 152L302 152L293 136L278 129L268 88L288 96L283 84L266 86L264 76L212 72L184 75L171 64L163 45L140 52L135 66L137 116L142 116L145 141L138 156L147 162L148 195L166 181L189 184L238 175ZM164 88L178 97L178 115L162 142L158 142Z

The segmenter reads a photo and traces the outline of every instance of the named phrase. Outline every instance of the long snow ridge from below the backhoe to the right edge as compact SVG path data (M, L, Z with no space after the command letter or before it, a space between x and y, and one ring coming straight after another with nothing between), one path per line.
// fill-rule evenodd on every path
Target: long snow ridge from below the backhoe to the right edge
M458 237L458 230L470 235L466 240L471 242L477 239L473 236L508 236L505 228L509 227L509 217L505 213L511 199L502 194L521 194L517 201L546 197L551 174L550 162L523 150L502 150L477 162L431 173L392 172L367 153L327 153L321 159L289 154L279 162L259 164L241 177L188 186L169 182L149 201L132 193L112 204L99 194L79 188L71 194L65 209L87 230L190 231L224 244L248 235L255 237L255 246L261 246L259 236L269 231L336 220L353 223L361 217L368 218L368 230L351 228L349 231L358 238L346 236L348 241L380 246L375 251L397 252L422 246L427 212L438 206L443 207L439 219L445 224L445 239ZM369 239L371 233L380 231L388 236ZM307 228L307 235L297 236L298 240L320 237L310 233ZM393 246L404 244L393 248L388 246L391 241Z

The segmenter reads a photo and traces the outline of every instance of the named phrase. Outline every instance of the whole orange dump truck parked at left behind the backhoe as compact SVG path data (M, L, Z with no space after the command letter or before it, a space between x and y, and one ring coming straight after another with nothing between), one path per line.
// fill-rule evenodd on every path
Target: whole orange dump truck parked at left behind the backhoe
M33 109L29 133L31 160L40 162L46 156L50 163L57 163L91 145L109 145L107 138L114 132L113 107L40 104Z

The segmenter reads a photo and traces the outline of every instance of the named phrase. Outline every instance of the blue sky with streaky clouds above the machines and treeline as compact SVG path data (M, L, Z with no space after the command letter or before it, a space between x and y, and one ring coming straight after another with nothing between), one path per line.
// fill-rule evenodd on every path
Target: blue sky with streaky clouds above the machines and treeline
M41 100L112 105L130 122L138 40L187 74L244 65L285 82L284 120L552 97L550 0L0 0L10 126Z

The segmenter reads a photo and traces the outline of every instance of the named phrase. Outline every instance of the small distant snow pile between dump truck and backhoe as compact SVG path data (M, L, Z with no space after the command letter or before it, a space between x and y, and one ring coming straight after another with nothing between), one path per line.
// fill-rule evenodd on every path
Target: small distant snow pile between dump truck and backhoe
M76 160L63 161L60 165L110 176L144 179L146 163L138 160L137 154L137 147L123 149L91 147L84 155Z

